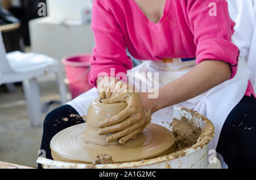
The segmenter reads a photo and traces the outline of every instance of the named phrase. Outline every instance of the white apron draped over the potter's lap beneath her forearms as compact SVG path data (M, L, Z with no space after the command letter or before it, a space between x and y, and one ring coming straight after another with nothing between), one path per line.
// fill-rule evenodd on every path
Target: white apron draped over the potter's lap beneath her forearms
M184 75L196 65L195 60L184 61L184 59L181 60L180 58L177 58L172 59L171 61L172 62L145 61L128 72L158 72L159 84L155 85L162 86ZM203 93L202 95L192 98L191 100L177 104L184 108L196 110L213 122L215 127L215 135L209 144L209 149L216 149L222 125L234 106L236 106L245 95L249 76L250 71L247 68L245 60L240 58L237 74L233 79L228 80ZM128 73L128 78L129 80L131 78L141 78L143 79L141 83L152 82L150 78L143 76L143 74L129 75ZM136 85L135 88L139 89L139 87L136 87ZM90 102L97 97L97 89L92 88L74 100L69 101L67 104L75 108L82 116L87 114ZM158 110L158 112L152 114L152 122L168 127L172 122L172 109L173 106L169 106L167 108Z

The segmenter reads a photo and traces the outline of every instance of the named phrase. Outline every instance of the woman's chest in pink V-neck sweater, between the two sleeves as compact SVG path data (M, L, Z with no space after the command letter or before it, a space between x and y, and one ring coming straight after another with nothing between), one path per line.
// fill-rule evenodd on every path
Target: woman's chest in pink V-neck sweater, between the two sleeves
M184 2L160 0L160 5L153 11L158 14L155 18L160 18L156 23L148 19L149 12L144 10L146 6L140 5L142 2L155 1L124 1L125 6L122 7L126 8L121 10L123 16L116 15L131 55L137 59L155 61L164 58L195 57L196 45L189 28ZM148 7L152 8L152 5Z

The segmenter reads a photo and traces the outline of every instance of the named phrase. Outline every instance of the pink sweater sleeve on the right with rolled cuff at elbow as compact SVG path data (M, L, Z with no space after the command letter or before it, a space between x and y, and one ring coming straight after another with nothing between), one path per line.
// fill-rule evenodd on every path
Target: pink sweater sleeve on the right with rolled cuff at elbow
M197 46L196 63L204 60L230 64L232 79L237 72L240 50L232 43L235 23L225 0L188 0L188 19Z

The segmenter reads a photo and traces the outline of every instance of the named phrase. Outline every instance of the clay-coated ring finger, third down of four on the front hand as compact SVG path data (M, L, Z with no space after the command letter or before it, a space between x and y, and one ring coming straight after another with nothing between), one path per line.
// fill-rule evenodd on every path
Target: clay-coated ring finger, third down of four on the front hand
M144 121L140 121L140 122L135 123L134 125L131 125L130 127L125 128L125 129L123 129L119 132L115 132L114 134L109 135L106 138L106 141L107 142L113 142L114 140L117 140L118 138L126 136L126 135L130 134L131 132L137 130L137 128L140 128L140 127L144 126L144 123L145 123Z

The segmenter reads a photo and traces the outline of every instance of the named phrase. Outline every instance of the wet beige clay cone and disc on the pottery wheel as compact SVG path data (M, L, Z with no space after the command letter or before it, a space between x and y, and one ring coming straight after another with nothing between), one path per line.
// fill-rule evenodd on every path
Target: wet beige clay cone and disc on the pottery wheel
M130 162L159 156L174 144L174 134L154 123L150 123L142 133L125 144L119 144L118 140L107 142L108 135L98 135L98 124L121 112L126 106L125 102L102 104L93 101L86 123L66 128L53 137L50 144L53 159L76 163L103 163L105 161L94 159L102 154L111 156L113 162Z

